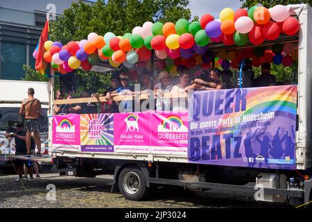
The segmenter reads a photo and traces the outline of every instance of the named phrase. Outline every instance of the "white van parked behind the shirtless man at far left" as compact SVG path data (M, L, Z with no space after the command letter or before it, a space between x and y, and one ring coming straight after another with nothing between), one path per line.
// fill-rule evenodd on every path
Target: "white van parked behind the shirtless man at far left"
M42 103L42 114L40 115L42 141L41 151L47 154L49 151L49 119L47 113L49 110L49 83L32 82L22 80L0 80L0 166L11 164L6 155L15 153L15 139L10 142L4 134L13 131L14 123L23 123L19 114L21 102L28 97L28 88L35 89L35 98ZM37 147L36 147L37 151Z

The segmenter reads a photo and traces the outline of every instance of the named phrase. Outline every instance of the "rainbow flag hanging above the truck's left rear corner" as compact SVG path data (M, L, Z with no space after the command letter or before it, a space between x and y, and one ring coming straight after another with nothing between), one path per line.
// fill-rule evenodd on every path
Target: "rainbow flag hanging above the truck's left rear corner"
M33 58L36 60L35 69L40 72L44 70L43 56L46 52L46 49L44 49L44 42L47 40L49 40L49 17L46 17L46 23L44 24L44 28L40 35L40 40L35 48L35 51L33 51Z

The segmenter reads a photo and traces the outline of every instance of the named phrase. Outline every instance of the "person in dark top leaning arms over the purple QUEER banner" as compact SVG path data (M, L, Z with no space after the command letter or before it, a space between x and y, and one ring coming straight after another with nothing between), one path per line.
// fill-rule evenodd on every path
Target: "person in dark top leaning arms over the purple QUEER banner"
M208 71L202 71L200 76L194 80L193 85L189 85L184 89L187 92L190 89L193 90L214 90L223 89L223 83L220 80L220 70L211 69L210 73Z

